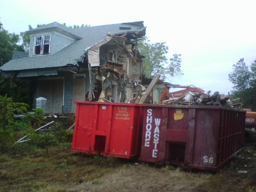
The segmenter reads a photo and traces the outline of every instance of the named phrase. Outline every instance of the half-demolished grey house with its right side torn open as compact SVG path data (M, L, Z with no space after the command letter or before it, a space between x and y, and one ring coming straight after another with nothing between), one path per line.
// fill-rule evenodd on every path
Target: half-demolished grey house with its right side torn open
M33 107L44 97L46 113L74 113L75 100L128 102L138 96L143 21L84 28L53 22L26 33L29 53L15 51L0 71L36 82Z

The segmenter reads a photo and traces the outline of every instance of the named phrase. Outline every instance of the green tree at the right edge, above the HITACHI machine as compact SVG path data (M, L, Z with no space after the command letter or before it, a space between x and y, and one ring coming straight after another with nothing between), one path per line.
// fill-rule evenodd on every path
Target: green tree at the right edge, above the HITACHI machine
M233 96L241 98L244 107L254 110L256 107L256 60L247 66L244 58L241 58L232 69L228 76L234 85Z

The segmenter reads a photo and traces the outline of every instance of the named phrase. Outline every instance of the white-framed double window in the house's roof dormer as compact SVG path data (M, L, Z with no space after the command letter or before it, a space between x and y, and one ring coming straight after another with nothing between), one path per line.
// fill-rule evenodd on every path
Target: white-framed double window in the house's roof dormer
M34 54L49 54L50 53L50 35L36 36Z

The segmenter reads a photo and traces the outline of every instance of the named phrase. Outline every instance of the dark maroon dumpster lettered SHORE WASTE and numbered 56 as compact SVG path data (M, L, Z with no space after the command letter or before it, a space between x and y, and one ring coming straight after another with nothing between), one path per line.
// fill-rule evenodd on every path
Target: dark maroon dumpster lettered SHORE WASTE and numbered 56
M144 104L139 160L218 170L242 149L244 124L242 110Z

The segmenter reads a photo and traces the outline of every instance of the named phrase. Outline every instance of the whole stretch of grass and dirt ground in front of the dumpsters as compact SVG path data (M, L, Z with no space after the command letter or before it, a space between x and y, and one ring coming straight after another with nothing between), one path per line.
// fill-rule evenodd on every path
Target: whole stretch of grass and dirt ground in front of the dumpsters
M50 149L49 156L43 150L22 157L0 154L0 191L256 192L256 146L246 146L216 174L82 157L69 148Z

